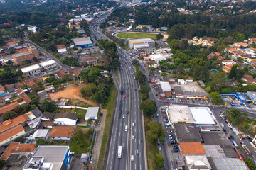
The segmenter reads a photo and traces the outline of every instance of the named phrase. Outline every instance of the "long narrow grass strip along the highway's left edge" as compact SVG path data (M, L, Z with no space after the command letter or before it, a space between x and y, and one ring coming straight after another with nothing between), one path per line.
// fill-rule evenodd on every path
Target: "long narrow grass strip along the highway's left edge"
M97 169L102 169L103 164L104 164L104 156L105 156L105 150L106 150L106 145L107 145L107 137L110 131L110 122L112 118L112 113L114 110L114 99L116 96L116 88L114 85L111 86L110 88L110 96L107 98L107 115L106 115L106 120L105 120L105 127L103 131L103 136L102 136L102 145L100 147L100 157L97 165Z

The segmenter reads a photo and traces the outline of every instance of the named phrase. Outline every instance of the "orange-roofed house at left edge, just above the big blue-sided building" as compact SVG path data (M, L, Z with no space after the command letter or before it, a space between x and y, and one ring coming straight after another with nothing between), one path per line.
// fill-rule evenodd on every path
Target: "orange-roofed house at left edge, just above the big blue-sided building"
M12 154L15 155L26 155L26 154L33 154L34 150L36 149L36 144L33 143L19 143L19 142L12 142L1 155L0 159L8 160Z

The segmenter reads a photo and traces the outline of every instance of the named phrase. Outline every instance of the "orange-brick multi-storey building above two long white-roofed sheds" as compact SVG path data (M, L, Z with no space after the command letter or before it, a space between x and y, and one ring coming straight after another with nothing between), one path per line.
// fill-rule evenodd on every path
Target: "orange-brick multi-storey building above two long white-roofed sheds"
M38 58L39 53L38 53L38 50L36 49L36 47L30 46L30 47L28 47L28 51L14 54L14 55L12 55L12 57L14 58L14 62L16 64L22 64L22 62L25 62L27 60L32 60L33 58Z

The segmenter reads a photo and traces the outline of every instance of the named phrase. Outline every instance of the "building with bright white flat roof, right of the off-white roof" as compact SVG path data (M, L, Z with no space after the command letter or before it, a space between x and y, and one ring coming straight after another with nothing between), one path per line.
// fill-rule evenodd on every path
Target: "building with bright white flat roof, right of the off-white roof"
M216 118L208 107L190 107L196 125L210 126L215 125Z

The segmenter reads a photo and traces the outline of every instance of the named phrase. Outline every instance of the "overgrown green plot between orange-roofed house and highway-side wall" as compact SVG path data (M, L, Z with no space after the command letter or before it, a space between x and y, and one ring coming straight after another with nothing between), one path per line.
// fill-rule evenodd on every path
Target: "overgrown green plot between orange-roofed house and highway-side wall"
M92 140L89 139L89 128L75 128L70 142L70 149L75 154L82 154L89 152Z

